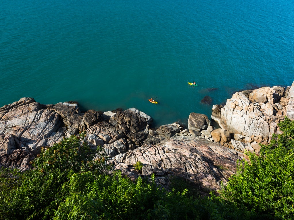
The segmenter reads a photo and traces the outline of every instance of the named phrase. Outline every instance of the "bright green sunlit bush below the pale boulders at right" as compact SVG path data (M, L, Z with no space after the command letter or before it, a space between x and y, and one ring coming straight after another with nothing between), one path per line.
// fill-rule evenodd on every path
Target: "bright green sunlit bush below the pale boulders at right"
M222 196L258 213L294 219L294 121L285 118L279 127L283 134L273 135L260 156L246 153L250 162L239 162Z

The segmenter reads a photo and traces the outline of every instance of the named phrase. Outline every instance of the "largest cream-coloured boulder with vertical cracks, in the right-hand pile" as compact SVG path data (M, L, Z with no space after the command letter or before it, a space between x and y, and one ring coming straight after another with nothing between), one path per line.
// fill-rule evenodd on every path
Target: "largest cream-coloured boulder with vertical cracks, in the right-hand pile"
M270 95L267 94L267 96ZM262 96L265 98L264 102L267 96ZM260 100L261 98L255 97L255 99ZM253 103L242 92L236 92L231 99L227 99L225 106L213 110L211 118L230 133L239 133L249 137L262 136L269 140L271 126L277 127L278 120L271 124L276 118L271 119L266 112L277 112L274 109L278 110L279 107L263 102Z

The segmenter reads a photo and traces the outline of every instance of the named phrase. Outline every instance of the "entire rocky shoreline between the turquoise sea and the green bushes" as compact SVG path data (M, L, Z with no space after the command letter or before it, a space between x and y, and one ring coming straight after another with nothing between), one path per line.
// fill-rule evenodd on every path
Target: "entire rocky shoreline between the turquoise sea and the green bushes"
M294 119L294 82L236 92L224 106L214 105L217 129L197 113L189 115L188 128L178 123L151 128L151 117L134 108L81 113L75 102L45 105L21 98L0 108L0 165L27 170L42 147L86 131L88 144L103 146L109 163L130 178L154 173L165 187L171 176L179 176L217 190L243 152L258 154L259 144L280 132L284 116ZM141 173L133 168L137 161L143 163Z

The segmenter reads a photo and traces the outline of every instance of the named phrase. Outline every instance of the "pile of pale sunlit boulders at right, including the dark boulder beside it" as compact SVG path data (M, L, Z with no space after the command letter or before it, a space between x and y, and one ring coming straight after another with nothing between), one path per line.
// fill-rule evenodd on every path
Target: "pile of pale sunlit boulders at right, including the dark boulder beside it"
M268 144L278 123L287 116L294 119L294 82L291 87L274 86L236 92L224 106L214 105L211 119L191 113L188 129L193 135L220 143L240 152L259 153L260 143Z

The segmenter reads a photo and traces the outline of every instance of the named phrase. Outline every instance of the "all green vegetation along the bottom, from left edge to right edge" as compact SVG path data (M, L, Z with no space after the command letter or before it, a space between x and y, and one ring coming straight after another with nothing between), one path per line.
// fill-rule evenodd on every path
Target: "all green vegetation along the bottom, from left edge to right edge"
M0 219L293 219L294 122L279 124L262 154L239 161L220 196L200 196L178 177L171 191L138 177L109 174L107 157L83 142L85 134L42 149L26 172L1 168ZM142 169L138 161L134 167Z

